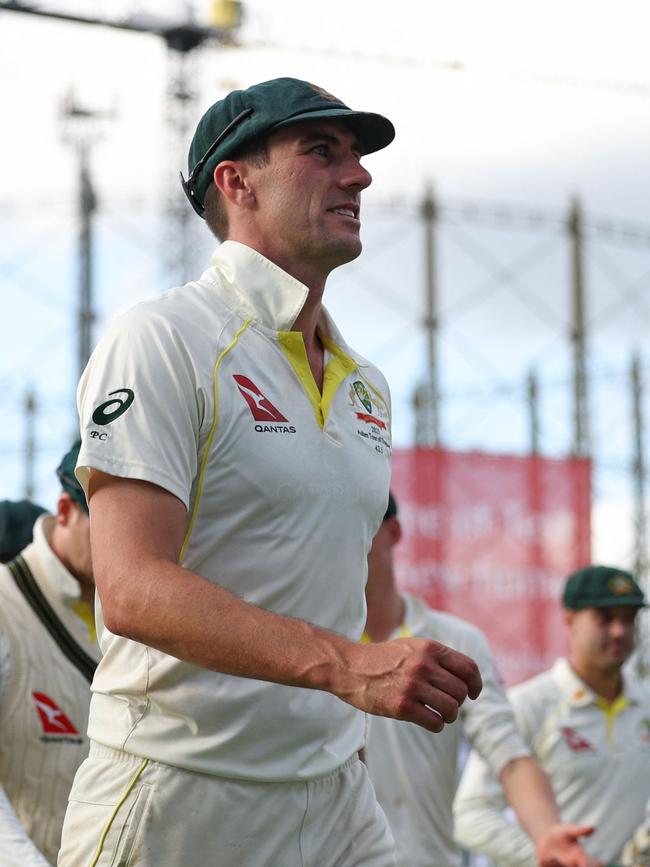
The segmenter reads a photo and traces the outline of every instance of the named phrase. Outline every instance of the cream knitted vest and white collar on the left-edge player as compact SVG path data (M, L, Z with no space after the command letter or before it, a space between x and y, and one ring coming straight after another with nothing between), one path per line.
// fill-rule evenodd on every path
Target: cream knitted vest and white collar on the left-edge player
M97 659L97 645L70 607L80 598L79 582L47 542L54 520L38 518L34 541L21 554L68 633ZM89 704L88 681L59 649L9 569L0 566L0 784L6 794L0 864L30 864L20 829L12 830L10 807L38 850L56 862L70 786L88 754Z

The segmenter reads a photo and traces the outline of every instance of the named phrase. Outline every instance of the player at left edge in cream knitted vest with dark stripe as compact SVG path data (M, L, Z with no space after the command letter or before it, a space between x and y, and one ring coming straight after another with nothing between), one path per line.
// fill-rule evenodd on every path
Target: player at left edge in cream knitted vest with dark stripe
M55 863L68 792L88 753L99 649L88 512L74 477L78 453L77 443L59 466L63 490L54 515L20 528L14 510L12 537L33 535L33 542L0 566L2 867ZM31 504L20 512L33 514Z

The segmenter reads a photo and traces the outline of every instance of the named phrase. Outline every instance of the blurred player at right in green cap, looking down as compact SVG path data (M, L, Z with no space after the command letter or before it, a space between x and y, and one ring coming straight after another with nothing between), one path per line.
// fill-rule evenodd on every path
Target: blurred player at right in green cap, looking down
M625 672L643 593L628 572L590 566L563 595L568 659L509 691L519 730L551 780L560 814L595 827L595 863L621 860L650 797L650 693ZM501 865L528 867L534 853L503 814L503 794L472 754L455 804L463 845Z

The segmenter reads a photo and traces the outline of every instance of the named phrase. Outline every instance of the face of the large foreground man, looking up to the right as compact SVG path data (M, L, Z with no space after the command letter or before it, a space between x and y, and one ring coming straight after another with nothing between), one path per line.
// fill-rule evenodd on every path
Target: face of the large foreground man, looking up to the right
M268 164L250 168L260 252L293 273L329 273L361 252L360 194L371 182L354 133L305 121L273 133Z

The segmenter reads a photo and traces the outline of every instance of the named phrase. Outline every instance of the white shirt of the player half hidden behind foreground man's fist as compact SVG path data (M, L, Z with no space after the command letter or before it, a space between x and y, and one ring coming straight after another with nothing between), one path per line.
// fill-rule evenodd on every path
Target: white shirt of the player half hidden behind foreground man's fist
M452 802L458 776L461 735L487 756L495 773L530 751L518 734L512 709L499 683L487 641L475 626L433 611L416 596L406 603L404 625L392 638L429 638L472 657L483 690L468 699L455 723L433 734L412 723L368 718L366 763L397 846L400 867L456 867Z

